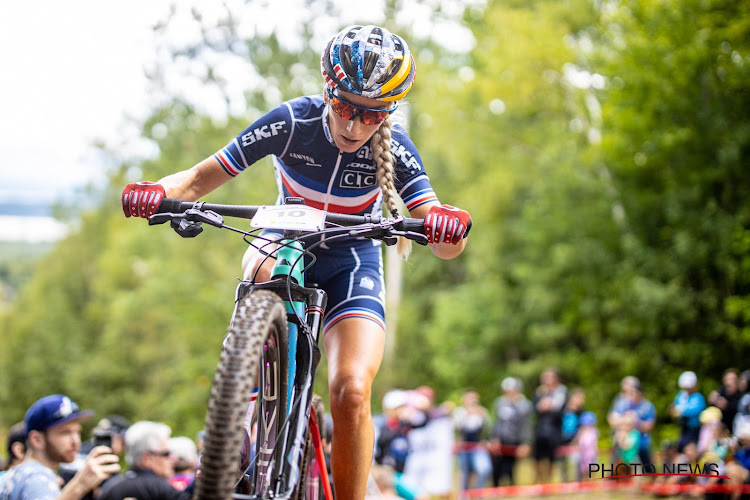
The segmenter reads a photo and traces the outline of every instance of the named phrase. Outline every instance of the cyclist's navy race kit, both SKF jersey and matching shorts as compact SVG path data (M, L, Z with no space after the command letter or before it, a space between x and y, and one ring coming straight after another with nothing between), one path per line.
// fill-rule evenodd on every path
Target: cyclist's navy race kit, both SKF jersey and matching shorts
M391 152L396 160L394 186L406 208L437 201L419 153L399 124L391 128ZM353 153L341 151L331 136L322 95L281 104L247 127L215 158L229 175L236 176L267 155L273 155L277 203L295 196L321 210L380 214L382 192L369 141ZM281 237L281 231L264 230L263 234ZM377 241L341 238L312 250L316 261L307 279L328 295L324 332L351 317L384 328L382 258L377 245Z

